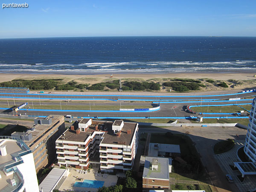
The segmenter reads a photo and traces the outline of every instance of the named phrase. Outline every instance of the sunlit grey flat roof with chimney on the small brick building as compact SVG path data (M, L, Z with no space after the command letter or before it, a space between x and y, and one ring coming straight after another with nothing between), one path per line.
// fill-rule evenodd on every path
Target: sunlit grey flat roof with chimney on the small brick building
M158 168L157 170L152 170L153 159L155 159L155 157L145 158L143 177L169 180L169 159L164 157L158 157Z

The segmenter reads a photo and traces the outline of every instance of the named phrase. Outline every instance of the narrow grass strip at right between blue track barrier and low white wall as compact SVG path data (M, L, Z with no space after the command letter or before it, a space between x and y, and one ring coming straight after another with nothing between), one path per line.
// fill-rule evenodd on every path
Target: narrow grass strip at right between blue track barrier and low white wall
M194 120L191 120L192 123L198 123ZM249 117L248 118L238 118L238 119L204 119L203 123L240 123L242 125L248 125Z

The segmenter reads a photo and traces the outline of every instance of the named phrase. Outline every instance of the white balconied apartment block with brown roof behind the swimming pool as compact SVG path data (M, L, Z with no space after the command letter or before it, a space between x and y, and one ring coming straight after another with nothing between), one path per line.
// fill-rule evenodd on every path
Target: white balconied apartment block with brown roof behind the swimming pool
M138 145L138 124L77 120L56 140L58 163L80 169L98 165L102 172L130 170Z

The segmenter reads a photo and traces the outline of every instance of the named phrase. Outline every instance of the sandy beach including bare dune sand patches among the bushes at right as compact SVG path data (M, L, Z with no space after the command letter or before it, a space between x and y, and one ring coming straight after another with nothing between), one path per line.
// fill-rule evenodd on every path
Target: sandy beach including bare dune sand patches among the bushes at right
M132 74L132 73L113 73L113 78L111 78L112 74L97 74L97 75L62 75L62 74L21 74L21 73L1 73L0 82L4 81L12 81L14 79L26 79L26 80L34 80L34 79L63 79L63 83L67 83L69 81L76 81L77 83L82 84L96 84L100 82L112 81L122 79L123 81L151 81L151 82L159 82L162 84L163 82L169 81L169 79L175 78L187 78L187 79L212 79L216 82L225 81L229 84L229 88L222 88L212 84L206 84L206 88L201 88L200 91L218 91L218 90L247 90L253 89L256 87L256 78L254 77L254 73L141 73L141 74ZM230 81L231 79L236 80ZM232 86L233 85L233 86ZM87 92L91 92L90 90L85 90ZM164 93L167 90L159 90L156 92ZM99 92L99 91L96 91ZM155 92L155 91L154 91Z

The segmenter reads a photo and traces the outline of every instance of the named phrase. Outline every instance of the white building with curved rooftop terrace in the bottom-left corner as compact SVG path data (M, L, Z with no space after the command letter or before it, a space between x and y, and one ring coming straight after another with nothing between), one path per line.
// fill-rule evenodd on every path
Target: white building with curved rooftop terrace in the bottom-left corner
M16 137L0 136L0 191L39 192L31 149Z

